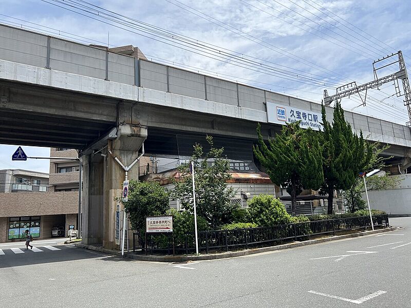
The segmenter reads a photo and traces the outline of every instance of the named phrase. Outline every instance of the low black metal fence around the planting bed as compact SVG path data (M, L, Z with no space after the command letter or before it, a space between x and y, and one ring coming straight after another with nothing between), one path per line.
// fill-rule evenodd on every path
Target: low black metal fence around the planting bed
M372 221L375 227L389 225L388 215L373 215ZM198 250L209 253L210 251L229 251L230 248L247 249L286 240L306 240L312 235L335 235L339 231L366 229L369 227L371 227L370 217L359 216L272 227L202 231L198 232ZM151 254L154 252L170 254L170 240L166 240L161 235L148 236L147 243L144 243L137 234L134 234L133 242L133 251L136 251L136 249L145 251L144 246L147 246L147 251ZM175 253L177 254L195 252L195 236L192 233L175 238L174 242Z

